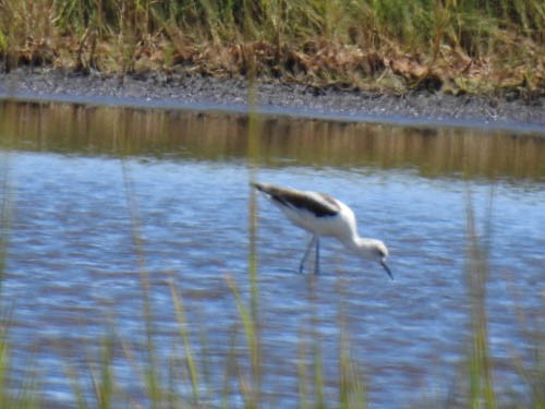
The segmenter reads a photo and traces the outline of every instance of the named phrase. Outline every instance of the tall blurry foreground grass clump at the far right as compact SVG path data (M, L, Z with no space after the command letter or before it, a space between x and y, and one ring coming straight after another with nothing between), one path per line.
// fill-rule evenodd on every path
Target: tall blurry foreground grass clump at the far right
M533 357L524 360L511 350L511 365L519 374L520 380L526 385L529 396L524 402L517 401L521 397L509 397L509 390L498 389L494 381L494 359L491 354L488 335L488 316L486 311L487 285L491 274L489 255L494 243L493 234L493 201L494 190L491 190L488 206L485 209L484 225L481 232L475 220L475 209L471 192L467 192L467 257L465 280L470 302L470 339L468 341L467 357L467 390L465 402L472 408L494 409L498 407L521 407L529 405L532 408L543 408L545 405L545 337L542 328L543 320L535 323L536 327L528 328L523 312L518 309L519 321L513 323L524 334L525 341L533 349ZM545 296L545 294L544 294ZM516 298L513 298L516 300ZM545 306L545 298L543 299ZM502 399L498 397L500 395ZM514 400L510 400L514 399Z

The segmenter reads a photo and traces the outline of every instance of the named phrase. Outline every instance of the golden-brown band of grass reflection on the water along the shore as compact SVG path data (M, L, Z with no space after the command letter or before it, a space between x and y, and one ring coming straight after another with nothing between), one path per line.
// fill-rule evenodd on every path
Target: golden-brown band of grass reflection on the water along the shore
M545 175L545 135L264 118L261 164L414 168L424 176ZM0 146L83 155L244 159L247 118L63 104L0 104Z

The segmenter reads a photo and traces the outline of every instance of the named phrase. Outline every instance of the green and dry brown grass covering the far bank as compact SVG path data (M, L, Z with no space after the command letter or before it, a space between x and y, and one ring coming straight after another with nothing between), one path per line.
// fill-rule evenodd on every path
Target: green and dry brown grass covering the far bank
M0 0L5 70L211 74L537 97L541 0Z

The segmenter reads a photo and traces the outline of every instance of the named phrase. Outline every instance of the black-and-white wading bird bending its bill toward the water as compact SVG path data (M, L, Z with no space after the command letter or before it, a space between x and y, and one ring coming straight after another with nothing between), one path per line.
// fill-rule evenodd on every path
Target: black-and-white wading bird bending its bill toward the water
M252 183L252 185L265 193L293 224L313 233L301 260L300 273L303 272L304 263L314 244L316 244L315 273L318 273L319 237L332 236L355 253L379 262L393 279L386 264L388 249L380 240L366 239L358 234L354 213L344 203L318 192L279 188L265 183Z

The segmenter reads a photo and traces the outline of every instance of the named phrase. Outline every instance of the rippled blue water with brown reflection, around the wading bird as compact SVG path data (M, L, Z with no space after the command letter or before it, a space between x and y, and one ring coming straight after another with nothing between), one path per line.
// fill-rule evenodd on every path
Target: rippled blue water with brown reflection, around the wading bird
M171 388L190 397L174 289L203 400L218 406L229 396L242 406L223 390L226 382L240 390L239 374L250 372L227 279L250 302L255 177L343 200L362 236L387 243L396 276L390 281L380 265L329 239L323 274L296 274L308 238L258 197L264 407L298 404L314 345L326 399L336 401L340 327L371 407L433 407L458 390L471 337L469 203L477 231L489 231L495 382L525 399L513 362L532 364L528 334L543 325L545 139L272 117L250 143L247 124L241 115L2 103L2 304L15 385L35 374L46 402L69 407L68 373L75 373L93 402L92 374L99 376L104 345L113 339L118 404L146 406L149 329L164 385L175 380Z

